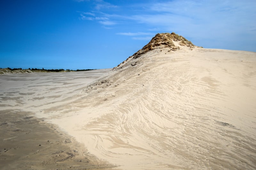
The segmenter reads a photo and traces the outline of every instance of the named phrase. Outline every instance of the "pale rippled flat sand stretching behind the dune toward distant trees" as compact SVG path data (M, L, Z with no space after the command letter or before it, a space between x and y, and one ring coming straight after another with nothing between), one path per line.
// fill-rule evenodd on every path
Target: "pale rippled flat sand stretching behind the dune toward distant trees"
M0 107L40 112L65 105L76 99L77 93L110 69L66 73L18 73L0 75ZM58 113L57 113L58 114Z

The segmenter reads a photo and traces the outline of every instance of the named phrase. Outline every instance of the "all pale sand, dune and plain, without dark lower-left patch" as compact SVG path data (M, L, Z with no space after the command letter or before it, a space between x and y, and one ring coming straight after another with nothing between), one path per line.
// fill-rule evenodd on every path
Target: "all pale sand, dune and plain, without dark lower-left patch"
M256 169L256 53L156 48L109 71L0 75L1 112L56 125L102 168Z

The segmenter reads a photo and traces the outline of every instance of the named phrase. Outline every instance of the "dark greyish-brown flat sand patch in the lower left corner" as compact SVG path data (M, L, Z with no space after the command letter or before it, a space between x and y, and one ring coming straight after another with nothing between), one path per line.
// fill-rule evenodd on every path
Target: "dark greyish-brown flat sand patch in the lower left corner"
M107 169L83 144L29 112L0 112L0 169Z

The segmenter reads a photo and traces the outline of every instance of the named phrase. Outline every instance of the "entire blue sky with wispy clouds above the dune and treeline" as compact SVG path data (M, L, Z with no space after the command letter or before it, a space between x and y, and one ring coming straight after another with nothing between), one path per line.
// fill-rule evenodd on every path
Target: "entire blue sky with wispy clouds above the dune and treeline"
M0 2L0 67L112 68L157 33L256 52L255 0Z

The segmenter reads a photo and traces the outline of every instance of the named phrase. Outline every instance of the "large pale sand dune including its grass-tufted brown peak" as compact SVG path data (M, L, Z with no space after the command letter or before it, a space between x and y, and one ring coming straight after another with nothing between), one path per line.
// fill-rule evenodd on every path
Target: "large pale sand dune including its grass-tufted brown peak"
M51 121L121 169L255 169L256 53L170 36L157 35Z

